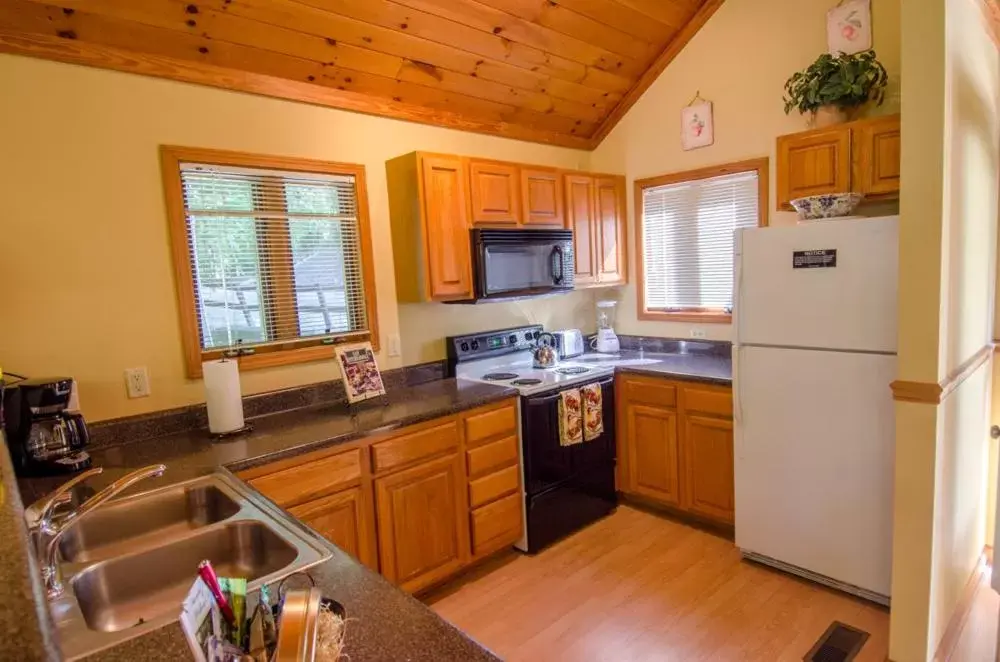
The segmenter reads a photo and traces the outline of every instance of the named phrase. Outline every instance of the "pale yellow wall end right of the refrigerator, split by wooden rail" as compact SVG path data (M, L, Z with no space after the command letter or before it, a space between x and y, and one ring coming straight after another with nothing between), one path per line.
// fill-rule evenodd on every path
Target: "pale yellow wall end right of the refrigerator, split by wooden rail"
M974 0L904 5L899 374L938 381L992 338L1000 60ZM990 366L897 404L890 658L930 659L994 512Z

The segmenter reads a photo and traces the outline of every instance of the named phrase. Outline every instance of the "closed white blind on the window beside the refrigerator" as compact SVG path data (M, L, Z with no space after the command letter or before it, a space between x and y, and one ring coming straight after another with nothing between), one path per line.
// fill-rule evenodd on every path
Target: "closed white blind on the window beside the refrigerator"
M758 222L757 172L642 192L643 301L662 312L733 305L733 233Z

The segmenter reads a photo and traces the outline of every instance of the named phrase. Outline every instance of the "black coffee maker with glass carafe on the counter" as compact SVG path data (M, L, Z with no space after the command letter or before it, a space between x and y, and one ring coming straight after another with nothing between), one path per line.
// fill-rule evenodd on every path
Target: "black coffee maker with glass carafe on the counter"
M5 385L3 428L14 470L22 476L48 476L86 469L90 440L83 415L69 411L73 380L24 379Z

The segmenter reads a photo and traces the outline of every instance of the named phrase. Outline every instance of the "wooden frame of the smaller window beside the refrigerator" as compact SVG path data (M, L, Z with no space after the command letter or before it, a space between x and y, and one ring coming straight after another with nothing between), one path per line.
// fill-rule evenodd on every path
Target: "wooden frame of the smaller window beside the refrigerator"
M690 310L666 312L663 310L650 310L646 306L646 270L643 261L646 257L645 246L643 245L643 218L642 218L642 194L647 188L663 186L665 184L677 184L680 182L692 182L699 179L710 179L721 175L735 175L741 172L757 173L757 210L758 227L767 225L768 214L768 174L769 161L767 157L759 159L748 159L746 161L736 161L725 163L697 170L685 170L656 177L635 180L635 244L636 244L636 303L638 317L640 320L650 322L694 322L710 324L729 324L733 316L718 308L691 308Z

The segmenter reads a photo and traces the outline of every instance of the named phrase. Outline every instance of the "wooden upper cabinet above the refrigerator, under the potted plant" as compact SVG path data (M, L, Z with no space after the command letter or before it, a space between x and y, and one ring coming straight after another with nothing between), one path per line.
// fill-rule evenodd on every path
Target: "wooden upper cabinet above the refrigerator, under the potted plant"
M899 194L899 115L779 136L777 153L778 209L824 193Z

